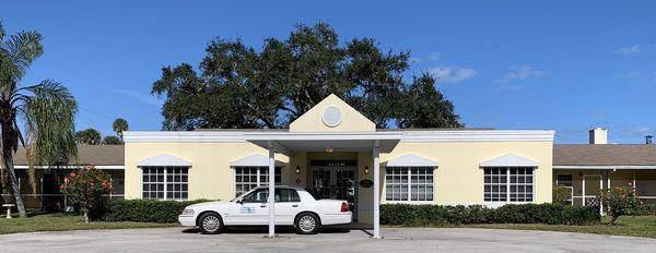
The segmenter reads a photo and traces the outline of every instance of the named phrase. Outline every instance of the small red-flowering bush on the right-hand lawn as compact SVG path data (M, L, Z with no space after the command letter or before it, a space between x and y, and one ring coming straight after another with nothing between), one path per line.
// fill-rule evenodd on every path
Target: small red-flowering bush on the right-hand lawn
M637 214L643 206L637 196L635 188L629 183L626 186L617 186L601 192L601 201L611 216L609 225L614 225L618 217L622 215Z

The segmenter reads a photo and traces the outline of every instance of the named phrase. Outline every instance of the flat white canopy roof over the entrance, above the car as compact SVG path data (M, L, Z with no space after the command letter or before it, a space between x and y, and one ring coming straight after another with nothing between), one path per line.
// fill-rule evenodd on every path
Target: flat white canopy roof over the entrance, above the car
M371 152L376 147L389 153L402 132L251 132L244 138L263 148L292 155L294 152Z

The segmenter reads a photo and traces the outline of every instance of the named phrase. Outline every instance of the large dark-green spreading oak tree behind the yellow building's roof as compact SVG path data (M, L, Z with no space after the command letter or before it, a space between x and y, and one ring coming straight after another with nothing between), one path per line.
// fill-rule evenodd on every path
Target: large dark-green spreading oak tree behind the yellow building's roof
M326 23L300 24L261 50L212 40L200 73L188 63L162 69L152 93L163 96L165 130L286 128L333 93L377 128L460 128L453 104L427 73L403 77L409 52L371 38L340 44Z

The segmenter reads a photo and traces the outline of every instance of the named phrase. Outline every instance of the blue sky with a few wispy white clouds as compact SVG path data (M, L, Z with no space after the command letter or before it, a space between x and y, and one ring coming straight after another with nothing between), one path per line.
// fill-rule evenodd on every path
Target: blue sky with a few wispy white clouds
M8 34L38 31L45 53L22 85L55 80L80 104L77 129L160 130L161 69L198 67L208 43L256 49L297 23L329 23L342 43L409 50L468 128L550 129L557 143L656 135L656 1L8 1Z

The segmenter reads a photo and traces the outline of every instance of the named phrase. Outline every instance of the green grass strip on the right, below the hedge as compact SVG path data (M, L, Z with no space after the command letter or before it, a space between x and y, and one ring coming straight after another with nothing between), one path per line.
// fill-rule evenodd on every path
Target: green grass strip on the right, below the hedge
M467 228L490 229L518 229L518 230L548 230L563 232L585 232L613 236L631 236L656 238L656 216L622 216L616 226L608 226L609 218L601 225L594 226L565 226L565 225L536 225L536 224L483 224L464 225Z

